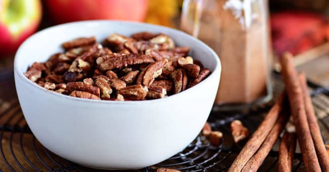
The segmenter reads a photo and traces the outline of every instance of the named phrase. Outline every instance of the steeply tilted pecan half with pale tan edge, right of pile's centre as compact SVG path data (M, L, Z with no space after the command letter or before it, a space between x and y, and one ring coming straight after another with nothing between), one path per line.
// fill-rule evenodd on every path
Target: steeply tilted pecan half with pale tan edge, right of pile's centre
M162 73L162 69L167 65L167 63L168 60L164 59L149 65L143 76L143 84L150 86L154 79Z

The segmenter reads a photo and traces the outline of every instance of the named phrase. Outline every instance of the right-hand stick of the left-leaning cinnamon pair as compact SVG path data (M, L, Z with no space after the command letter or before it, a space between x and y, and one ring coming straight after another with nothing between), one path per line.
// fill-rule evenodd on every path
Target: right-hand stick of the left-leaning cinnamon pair
M245 164L242 168L242 172L248 171L257 171L258 168L262 165L262 162L271 151L274 143L279 137L282 129L284 128L286 122L289 119L289 115L287 113L281 113L279 119L275 122L271 132L267 135L266 139L262 146L258 149L255 155Z

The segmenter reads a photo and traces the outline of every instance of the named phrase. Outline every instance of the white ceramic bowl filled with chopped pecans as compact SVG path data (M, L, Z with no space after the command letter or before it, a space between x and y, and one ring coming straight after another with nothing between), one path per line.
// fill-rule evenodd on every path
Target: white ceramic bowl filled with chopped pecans
M47 91L24 76L33 62L62 52L61 43L80 36L102 41L111 33L162 32L209 68L211 75L177 95L148 101L100 101ZM17 95L32 133L47 149L81 165L106 169L141 168L183 150L200 132L217 92L221 64L200 40L175 29L123 21L62 24L29 37L17 51Z

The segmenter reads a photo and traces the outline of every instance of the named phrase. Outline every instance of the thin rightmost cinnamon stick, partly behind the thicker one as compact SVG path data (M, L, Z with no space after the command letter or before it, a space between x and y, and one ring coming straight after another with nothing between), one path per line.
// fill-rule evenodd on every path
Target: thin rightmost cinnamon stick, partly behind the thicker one
M317 123L314 108L312 105L312 100L311 100L311 97L309 96L309 93L307 90L307 82L306 82L306 77L305 77L304 73L299 74L299 81L302 85L306 116L307 116L307 120L308 120L308 125L310 127L312 139L314 142L316 155L318 157L322 171L328 172L329 171L329 156L327 154L325 145L324 145L322 137L321 137L320 127L319 127L319 124Z

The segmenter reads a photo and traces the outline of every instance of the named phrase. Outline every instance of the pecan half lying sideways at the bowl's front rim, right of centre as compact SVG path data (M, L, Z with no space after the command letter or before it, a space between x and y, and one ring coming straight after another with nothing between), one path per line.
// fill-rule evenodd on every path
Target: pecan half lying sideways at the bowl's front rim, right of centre
M117 93L130 100L144 100L147 95L147 87L141 84L130 85L124 89L119 90Z

